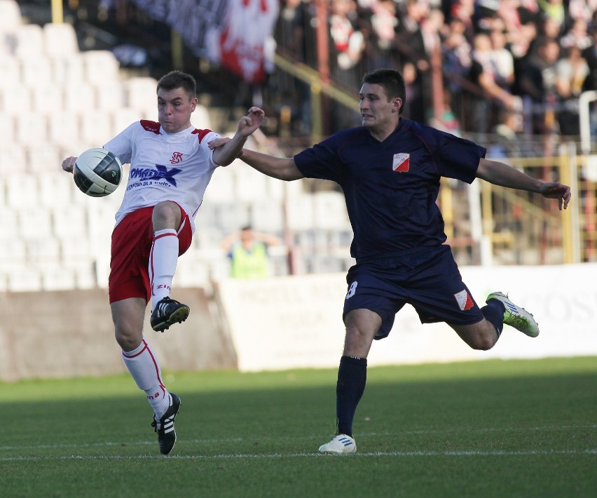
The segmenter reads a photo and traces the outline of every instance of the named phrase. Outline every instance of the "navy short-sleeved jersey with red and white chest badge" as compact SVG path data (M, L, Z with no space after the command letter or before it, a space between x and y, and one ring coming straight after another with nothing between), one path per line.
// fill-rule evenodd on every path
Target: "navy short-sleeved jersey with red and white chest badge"
M367 128L350 128L296 154L294 162L304 176L342 187L355 234L350 254L358 261L444 243L439 180L471 183L485 153L474 142L401 119L383 142Z

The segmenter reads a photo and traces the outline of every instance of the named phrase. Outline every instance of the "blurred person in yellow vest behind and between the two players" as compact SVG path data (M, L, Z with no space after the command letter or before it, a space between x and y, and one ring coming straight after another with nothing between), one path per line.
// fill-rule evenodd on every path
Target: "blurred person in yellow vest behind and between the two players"
M230 258L232 278L266 278L270 276L268 246L280 244L280 238L256 232L251 226L228 235L221 247Z

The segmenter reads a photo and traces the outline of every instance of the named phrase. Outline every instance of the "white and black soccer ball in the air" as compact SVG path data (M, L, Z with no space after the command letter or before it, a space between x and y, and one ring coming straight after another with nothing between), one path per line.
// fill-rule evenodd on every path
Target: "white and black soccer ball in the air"
M104 197L114 192L122 175L120 159L102 148L82 152L73 168L76 186L83 194L92 197Z

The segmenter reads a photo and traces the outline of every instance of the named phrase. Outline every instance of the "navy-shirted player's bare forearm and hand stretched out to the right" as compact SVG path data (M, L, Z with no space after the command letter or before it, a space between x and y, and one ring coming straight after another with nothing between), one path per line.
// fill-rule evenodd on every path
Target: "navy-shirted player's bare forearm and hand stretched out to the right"
M560 182L542 182L499 161L481 159L476 177L501 187L537 192L544 197L558 199L560 210L568 208L570 202L571 194L568 185Z

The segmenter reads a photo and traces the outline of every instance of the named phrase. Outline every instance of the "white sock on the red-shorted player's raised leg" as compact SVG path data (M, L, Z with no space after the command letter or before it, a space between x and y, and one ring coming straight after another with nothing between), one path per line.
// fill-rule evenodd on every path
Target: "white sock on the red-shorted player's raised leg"
M172 278L178 260L178 236L176 230L158 230L153 234L149 253L149 281L151 282L151 311L164 297L170 296Z

